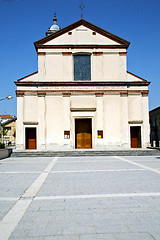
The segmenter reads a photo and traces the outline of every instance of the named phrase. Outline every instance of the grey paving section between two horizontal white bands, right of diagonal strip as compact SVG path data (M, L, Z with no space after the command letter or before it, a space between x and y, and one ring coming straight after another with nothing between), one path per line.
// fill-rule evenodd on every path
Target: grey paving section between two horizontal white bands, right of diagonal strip
M53 173L38 196L159 192L159 182L160 175L150 171Z

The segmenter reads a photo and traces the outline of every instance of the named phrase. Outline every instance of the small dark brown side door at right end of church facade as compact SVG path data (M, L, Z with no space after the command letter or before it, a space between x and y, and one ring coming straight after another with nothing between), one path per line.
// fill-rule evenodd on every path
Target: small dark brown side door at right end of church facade
M131 127L131 148L141 148L141 127Z

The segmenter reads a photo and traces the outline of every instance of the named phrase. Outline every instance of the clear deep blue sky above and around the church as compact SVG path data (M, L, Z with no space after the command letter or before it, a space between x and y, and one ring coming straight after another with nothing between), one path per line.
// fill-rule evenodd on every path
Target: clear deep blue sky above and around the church
M53 24L80 19L81 0L0 0L0 114L16 115L14 81L37 71L33 45ZM160 106L160 0L84 0L84 19L125 40L128 71L151 82L150 110Z

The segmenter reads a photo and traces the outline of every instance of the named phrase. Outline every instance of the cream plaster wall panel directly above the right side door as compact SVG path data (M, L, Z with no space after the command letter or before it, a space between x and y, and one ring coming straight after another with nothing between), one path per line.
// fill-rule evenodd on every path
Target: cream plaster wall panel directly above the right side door
M128 120L142 120L141 94L128 95Z

